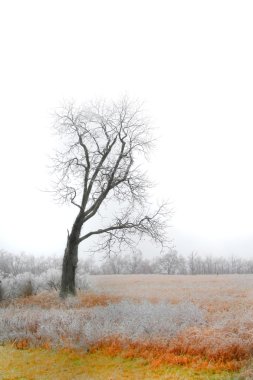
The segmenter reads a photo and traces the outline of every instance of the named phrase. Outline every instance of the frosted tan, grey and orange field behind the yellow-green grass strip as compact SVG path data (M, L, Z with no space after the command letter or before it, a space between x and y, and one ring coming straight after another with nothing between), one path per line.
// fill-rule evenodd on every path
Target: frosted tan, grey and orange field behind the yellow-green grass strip
M2 303L0 339L91 347L108 339L165 345L236 368L253 352L253 275L89 276L89 291ZM124 346L125 347L125 346Z

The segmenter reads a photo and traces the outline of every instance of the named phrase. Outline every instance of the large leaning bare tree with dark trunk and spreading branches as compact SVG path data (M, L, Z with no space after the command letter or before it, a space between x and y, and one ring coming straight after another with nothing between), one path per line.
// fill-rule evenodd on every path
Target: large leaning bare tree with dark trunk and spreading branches
M57 113L55 127L62 137L61 150L53 159L55 193L78 209L63 259L61 296L65 297L76 291L80 243L100 236L98 249L108 254L136 244L136 235L164 244L168 212L165 204L153 209L148 203L152 184L140 162L153 141L136 103L124 98L110 105L70 104ZM97 215L111 218L92 229L90 220Z

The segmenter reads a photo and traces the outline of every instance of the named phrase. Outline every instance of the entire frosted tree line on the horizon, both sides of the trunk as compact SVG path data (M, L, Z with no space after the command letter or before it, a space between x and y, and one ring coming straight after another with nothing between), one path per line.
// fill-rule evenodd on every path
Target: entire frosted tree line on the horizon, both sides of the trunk
M32 273L40 275L48 269L62 268L60 257L34 257L33 255L15 255L0 250L0 277ZM251 274L253 259L236 256L214 257L201 256L191 252L187 256L179 254L175 249L153 258L144 257L138 250L128 254L112 254L103 260L95 260L94 256L79 260L78 272L90 275L107 274L167 274L167 275L205 275L205 274Z

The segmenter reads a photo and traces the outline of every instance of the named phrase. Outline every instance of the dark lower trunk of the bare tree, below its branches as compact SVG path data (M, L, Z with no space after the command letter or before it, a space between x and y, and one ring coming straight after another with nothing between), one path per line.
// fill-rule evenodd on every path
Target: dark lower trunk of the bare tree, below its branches
M67 245L64 252L62 263L62 278L60 296L62 298L68 295L76 295L76 268L78 262L78 239L82 228L82 222L79 217L72 227L70 235L68 235Z

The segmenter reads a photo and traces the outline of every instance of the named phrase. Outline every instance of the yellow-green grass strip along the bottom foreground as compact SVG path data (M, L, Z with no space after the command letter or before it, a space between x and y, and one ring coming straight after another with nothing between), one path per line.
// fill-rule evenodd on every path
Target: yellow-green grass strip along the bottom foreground
M102 351L82 353L74 350L33 348L18 350L0 347L1 380L229 380L238 378L226 371L197 370L183 366L154 367L141 358L106 355Z

